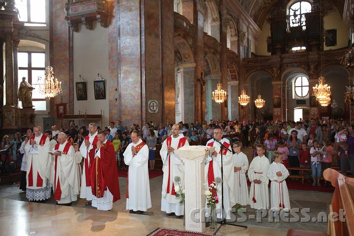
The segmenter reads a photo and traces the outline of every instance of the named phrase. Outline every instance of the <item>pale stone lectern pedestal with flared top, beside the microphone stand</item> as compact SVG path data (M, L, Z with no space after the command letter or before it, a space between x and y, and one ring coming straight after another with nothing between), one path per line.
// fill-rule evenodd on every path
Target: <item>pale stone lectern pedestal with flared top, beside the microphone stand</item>
M175 150L184 162L185 229L205 232L205 160L214 147L185 146Z

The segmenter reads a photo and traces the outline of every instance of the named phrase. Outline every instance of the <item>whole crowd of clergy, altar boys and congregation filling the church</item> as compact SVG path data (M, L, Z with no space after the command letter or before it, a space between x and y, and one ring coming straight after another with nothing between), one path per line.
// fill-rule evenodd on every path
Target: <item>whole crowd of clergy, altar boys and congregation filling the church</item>
M233 152L222 149L215 140ZM225 209L246 205L256 211L268 209L269 180L271 208L290 209L284 181L290 175L287 168L311 169L313 186L321 186L326 168L338 165L343 174L348 170L354 174L354 120L347 123L342 119L145 122L143 127L123 126L118 120L107 127L90 123L88 128L71 122L66 130L54 125L43 134L35 126L25 136L16 133L12 140L5 135L1 149L9 151L1 158L3 162L7 158L14 169L21 166L20 189L26 191L29 200L46 200L53 190L58 204L71 204L80 196L87 199L86 205L102 210L110 210L120 199L118 170L128 169L126 209L141 214L151 207L148 169L155 169L159 154L163 164L161 210L179 217L184 207L176 195L180 196L182 189L175 186L184 186L184 168L174 150L185 145L215 147L205 163L207 190L221 177L223 153ZM159 153L157 146L161 147ZM254 149L252 158L241 151L249 146ZM291 173L296 174L296 170ZM249 194L246 174L251 182ZM178 183L175 177L179 177ZM210 192L219 210L217 217L230 218L230 211L224 216L221 212L220 191ZM206 204L206 216L210 215L207 208Z

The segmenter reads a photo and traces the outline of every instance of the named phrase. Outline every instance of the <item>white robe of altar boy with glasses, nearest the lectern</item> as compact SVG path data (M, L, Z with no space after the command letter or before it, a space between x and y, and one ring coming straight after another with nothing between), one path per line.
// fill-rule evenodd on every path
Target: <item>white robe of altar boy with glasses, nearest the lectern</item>
M233 155L234 167L241 167L240 171L234 172L234 192L236 204L241 206L248 205L248 186L246 180L246 172L248 170L248 158L241 151Z

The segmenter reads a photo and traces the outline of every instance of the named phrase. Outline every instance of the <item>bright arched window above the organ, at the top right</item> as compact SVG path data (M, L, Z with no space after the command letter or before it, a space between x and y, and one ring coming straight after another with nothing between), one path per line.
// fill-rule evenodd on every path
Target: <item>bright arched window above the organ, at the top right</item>
M290 27L302 26L306 29L305 13L311 12L312 6L308 1L298 1L289 7L289 23Z

